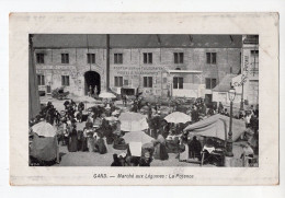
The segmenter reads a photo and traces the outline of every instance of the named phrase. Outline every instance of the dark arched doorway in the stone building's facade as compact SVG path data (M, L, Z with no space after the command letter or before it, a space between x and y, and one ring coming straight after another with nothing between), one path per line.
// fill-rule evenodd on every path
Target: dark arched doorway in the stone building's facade
M100 94L101 91L101 84L100 84L100 74L95 71L87 71L84 73L84 81L86 81L86 90L84 94L88 95L88 92L90 90L90 85L92 86L92 93L94 94L94 88L96 88L96 94Z

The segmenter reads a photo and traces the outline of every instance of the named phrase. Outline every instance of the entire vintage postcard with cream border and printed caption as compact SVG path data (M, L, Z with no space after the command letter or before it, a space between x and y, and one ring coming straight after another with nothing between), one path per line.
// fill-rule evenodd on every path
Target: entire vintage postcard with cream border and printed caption
M9 86L11 185L278 184L277 13L11 13Z

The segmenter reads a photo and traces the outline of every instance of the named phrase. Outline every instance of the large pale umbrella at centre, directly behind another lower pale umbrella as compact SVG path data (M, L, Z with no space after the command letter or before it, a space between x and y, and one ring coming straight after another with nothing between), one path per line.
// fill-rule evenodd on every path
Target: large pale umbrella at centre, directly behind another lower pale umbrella
M141 131L148 129L147 117L138 113L122 113L118 120L121 121L121 130L124 131Z

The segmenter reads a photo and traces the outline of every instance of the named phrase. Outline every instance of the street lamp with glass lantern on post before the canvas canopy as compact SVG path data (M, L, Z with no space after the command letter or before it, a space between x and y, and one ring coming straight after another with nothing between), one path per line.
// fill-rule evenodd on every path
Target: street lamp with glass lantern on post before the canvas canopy
M235 101L236 97L236 90L231 85L229 90L229 101L230 101L230 117L229 117L229 133L228 133L228 139L227 139L227 156L233 156L232 154L232 102Z

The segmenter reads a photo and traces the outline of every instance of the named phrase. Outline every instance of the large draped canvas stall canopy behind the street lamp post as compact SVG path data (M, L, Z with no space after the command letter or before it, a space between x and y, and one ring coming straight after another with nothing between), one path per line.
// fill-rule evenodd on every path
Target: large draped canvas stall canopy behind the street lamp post
M232 141L237 141L244 130L244 121L232 118ZM195 136L214 137L220 140L227 140L229 117L217 114L187 126L184 131L189 131Z

